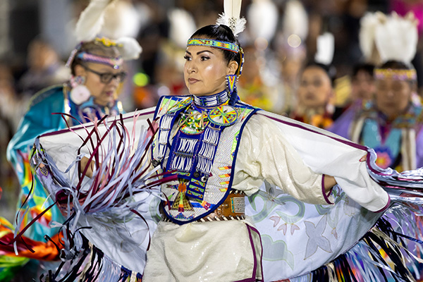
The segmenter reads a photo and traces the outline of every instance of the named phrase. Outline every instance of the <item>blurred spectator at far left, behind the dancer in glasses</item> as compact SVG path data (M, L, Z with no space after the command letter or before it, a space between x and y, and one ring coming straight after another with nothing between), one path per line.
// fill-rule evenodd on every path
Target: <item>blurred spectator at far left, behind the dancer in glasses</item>
M41 38L30 43L27 66L28 70L18 81L18 91L23 97L31 97L45 87L66 82L71 75L53 47Z

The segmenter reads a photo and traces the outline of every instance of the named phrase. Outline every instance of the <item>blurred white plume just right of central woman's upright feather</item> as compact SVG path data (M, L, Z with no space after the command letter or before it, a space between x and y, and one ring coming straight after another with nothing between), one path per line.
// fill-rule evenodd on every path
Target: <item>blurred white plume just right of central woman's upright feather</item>
M278 25L278 9L270 0L254 0L247 12L249 30L253 38L270 41Z

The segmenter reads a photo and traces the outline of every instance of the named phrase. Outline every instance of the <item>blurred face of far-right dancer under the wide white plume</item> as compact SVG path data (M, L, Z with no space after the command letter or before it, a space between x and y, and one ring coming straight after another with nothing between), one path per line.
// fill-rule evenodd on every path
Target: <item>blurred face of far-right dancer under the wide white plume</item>
M376 106L390 119L403 114L410 103L411 94L410 81L392 78L376 80Z

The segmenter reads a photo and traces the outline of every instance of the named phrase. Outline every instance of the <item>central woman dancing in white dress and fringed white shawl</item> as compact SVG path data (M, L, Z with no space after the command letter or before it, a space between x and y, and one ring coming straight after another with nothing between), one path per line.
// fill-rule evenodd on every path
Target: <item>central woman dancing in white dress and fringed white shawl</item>
M81 219L89 209L101 209L100 220L92 231L71 230L75 238L78 233L85 235L90 244L75 240L75 245L66 245L64 259L71 267L64 270L71 269L72 277L85 281L137 281L144 265L142 281L147 282L337 281L337 276L357 281L382 281L387 276L412 281L402 262L403 257L412 258L407 245L403 249L401 240L390 238L398 233L394 235L379 218L390 207L391 197L393 202L409 200L398 197L400 192L422 195L422 176L382 170L374 165L374 152L367 147L240 102L235 87L242 64L235 37L242 30L239 13L240 1L225 1L225 22L202 27L188 40L184 77L190 95L164 96L155 109L126 114L110 123L122 123L127 129L122 132L141 133L136 140L140 144L145 138L142 125L154 128L149 120L157 121L146 166L151 161L150 171L163 172L159 174L160 212L149 197L132 197L137 187L130 178L136 169L114 173L116 180L102 175L104 169L124 168L126 159L116 165L97 158L94 184L87 188L95 188L90 192L96 202L88 204L73 197L68 219L73 225L80 219L78 223L86 226L87 221ZM235 23L233 28L231 23ZM99 134L112 132L108 125L98 128ZM54 183L51 174L64 176L63 171L71 167L68 161L78 167L79 149L89 151L78 142L84 131L72 128L37 139L37 157L51 173L43 176L42 167L35 164L36 173L53 195L62 190L73 195L80 192L67 180ZM114 148L122 147L124 140L118 138L118 145L113 146L112 135L102 142ZM61 144L68 146L67 152L56 149ZM142 149L129 145L130 157ZM71 151L78 151L76 161ZM145 238L131 235L134 226L121 216L125 204L114 214L114 202L108 194L104 196L105 188L122 179L130 186L122 196L127 197L125 204L147 205L148 209L137 209L146 221L161 214L157 226L148 221L155 231L146 255L134 253L142 252L139 245ZM102 180L100 190L97 180ZM421 207L418 200L413 201ZM82 209L81 204L90 207ZM410 209L396 208L404 214ZM130 250L125 241L118 240L125 234ZM378 244L396 262L395 271L384 265L375 247ZM144 255L146 264L140 260Z

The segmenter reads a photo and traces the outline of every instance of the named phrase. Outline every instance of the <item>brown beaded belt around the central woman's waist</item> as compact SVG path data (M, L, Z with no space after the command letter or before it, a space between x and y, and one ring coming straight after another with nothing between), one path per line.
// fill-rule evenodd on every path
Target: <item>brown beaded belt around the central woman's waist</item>
M228 221L245 219L245 193L240 190L231 190L228 197L217 207L214 212L197 219L197 222L206 221ZM161 220L171 222L166 216L161 216Z

